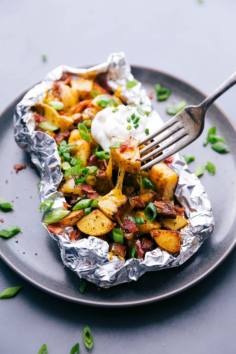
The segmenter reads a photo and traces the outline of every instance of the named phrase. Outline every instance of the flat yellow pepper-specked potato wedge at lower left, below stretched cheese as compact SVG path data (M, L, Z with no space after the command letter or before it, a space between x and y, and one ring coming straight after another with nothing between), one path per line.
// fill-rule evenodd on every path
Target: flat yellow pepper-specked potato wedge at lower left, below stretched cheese
M115 226L101 210L95 209L77 222L77 227L86 235L100 236L111 231Z

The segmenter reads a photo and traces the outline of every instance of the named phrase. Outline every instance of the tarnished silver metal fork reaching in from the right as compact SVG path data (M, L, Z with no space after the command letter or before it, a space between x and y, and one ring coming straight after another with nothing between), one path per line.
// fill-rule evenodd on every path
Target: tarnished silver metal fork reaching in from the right
M141 171L148 169L162 160L165 160L196 140L201 135L204 128L206 110L215 101L215 99L235 84L236 72L225 80L223 84L212 92L211 95L205 98L202 103L197 106L185 107L173 118L168 120L168 122L166 122L159 130L142 139L139 146L142 146L148 141L156 138L153 142L140 150L142 162L149 160L152 156L160 153L162 154L157 158L146 162L146 164L141 167ZM157 149L146 154L154 147L157 147Z

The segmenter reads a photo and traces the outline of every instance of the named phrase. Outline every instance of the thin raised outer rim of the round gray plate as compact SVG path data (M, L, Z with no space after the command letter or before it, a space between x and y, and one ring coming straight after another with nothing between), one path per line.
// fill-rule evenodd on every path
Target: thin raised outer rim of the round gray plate
M81 64L78 65L78 67L90 67L90 66L96 65L96 64ZM183 79L178 78L178 76L166 73L164 71L161 70L157 70L154 68L150 68L150 67L144 67L142 65L133 65L131 64L131 70L135 68L135 69L139 69L139 70L148 70L148 71L152 71L155 72L157 74L160 75L165 75L168 76L169 78L175 80L175 81L179 81L182 84L191 87L191 89L197 91L200 95L202 95L203 97L207 97L207 95L202 92L200 89L198 89L197 87L193 86L192 84L190 84L188 81L185 81ZM43 80L43 79L42 79ZM42 81L41 80L41 81ZM29 86L27 86L25 89L23 89L22 91L20 91L17 95L15 95L10 101L8 101L0 110L0 118L2 115L4 115L4 113L6 112L7 109L10 109L11 106L16 102L19 101L19 99L25 95L25 93L27 93L30 89L32 89L35 85L39 84L41 82L40 80L36 81L34 84L31 84ZM236 127L233 124L233 122L230 120L230 118L228 117L228 115L225 113L224 109L222 109L218 104L213 103L213 105L215 106L215 108L217 108L221 114L223 114L224 118L229 122L230 126L232 127L232 129L235 132L236 135ZM172 297L174 295L177 295L185 290L190 289L192 286L196 285L198 282L200 282L201 280L205 279L209 274L211 274L215 269L217 269L219 267L219 265L221 263L223 263L223 261L230 255L230 253L232 252L232 250L235 248L236 246L236 237L234 239L234 241L231 243L230 247L226 250L226 252L218 259L218 261L216 263L214 263L212 265L212 267L210 267L209 269L207 269L203 274L201 274L200 276L198 276L196 279L188 282L188 284L185 284L181 287L179 287L178 289L169 291L165 294L162 295L158 295L158 296L154 296L154 297L150 297L148 299L143 299L143 300L136 300L136 301L127 301L127 302L101 302L101 301L92 301L92 300L87 300L87 299L80 299L77 297L73 297L73 296L69 296L69 295L65 295L61 292L52 290L50 288L48 288L45 285L40 284L38 281L35 281L34 279L30 278L30 276L28 276L27 274L25 274L22 270L20 270L16 265L14 265L10 259L8 259L0 250L0 258L2 259L2 261L5 262L5 264L8 265L8 267L13 270L16 274L18 274L21 278L23 278L24 280L28 281L31 285L37 287L38 289L45 291L46 293L48 293L49 295L52 296L56 296L58 298L61 298L63 300L66 301L70 301L70 302L74 302L74 303L79 303L85 306L93 306L93 307L127 307L127 306L141 306L141 305L145 305L145 304L150 304L150 303L154 303L157 301L161 301L164 299L167 299L169 297Z

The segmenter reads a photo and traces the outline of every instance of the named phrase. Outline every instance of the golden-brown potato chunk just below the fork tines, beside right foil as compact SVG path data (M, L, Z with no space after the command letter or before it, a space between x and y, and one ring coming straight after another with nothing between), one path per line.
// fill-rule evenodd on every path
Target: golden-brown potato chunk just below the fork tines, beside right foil
M150 180L157 186L157 191L163 198L174 199L178 184L178 175L165 162L152 166Z

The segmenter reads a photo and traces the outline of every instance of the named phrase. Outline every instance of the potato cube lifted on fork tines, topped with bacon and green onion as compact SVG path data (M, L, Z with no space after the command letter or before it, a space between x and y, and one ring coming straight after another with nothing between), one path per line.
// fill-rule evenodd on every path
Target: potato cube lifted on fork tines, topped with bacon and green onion
M111 142L114 141L119 141L122 143L125 140L112 138ZM120 152L120 147L110 149L111 159L116 162L118 166L121 164L125 171L138 174L141 167L140 152L138 147L139 142L134 140L129 140L129 142L130 146L132 146L134 150L127 148L124 152Z

